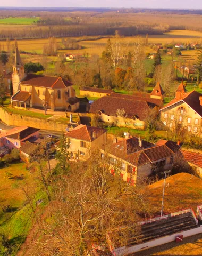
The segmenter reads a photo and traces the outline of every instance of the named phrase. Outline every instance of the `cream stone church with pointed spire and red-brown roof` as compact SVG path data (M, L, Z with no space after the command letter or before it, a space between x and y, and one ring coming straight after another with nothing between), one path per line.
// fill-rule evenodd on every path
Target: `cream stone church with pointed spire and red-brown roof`
M79 109L73 84L62 77L26 74L18 47L15 52L12 83L11 104L15 108L46 107L52 111L72 112Z

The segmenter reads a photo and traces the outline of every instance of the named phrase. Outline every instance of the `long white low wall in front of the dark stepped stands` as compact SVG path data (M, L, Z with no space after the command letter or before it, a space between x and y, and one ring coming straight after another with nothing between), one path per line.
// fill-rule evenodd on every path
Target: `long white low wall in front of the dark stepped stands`
M193 236L193 235L196 235L199 233L202 233L202 225L198 228L193 228L193 229L190 229L187 231L182 231L179 233L172 234L170 236L164 236L161 238L157 238L157 239L154 239L154 240L146 242L146 243L137 244L137 245L133 245L130 247L124 246L124 247L116 248L112 251L112 254L114 256L125 256L130 253L143 251L143 250L146 250L146 249L158 246L158 245L173 242L173 241L175 241L176 237L180 236L180 235L183 235L183 237L189 237L189 236Z

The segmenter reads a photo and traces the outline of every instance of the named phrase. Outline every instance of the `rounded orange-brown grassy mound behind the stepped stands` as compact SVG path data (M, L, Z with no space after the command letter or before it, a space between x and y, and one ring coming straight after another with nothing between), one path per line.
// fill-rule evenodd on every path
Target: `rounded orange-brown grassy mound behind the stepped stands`
M161 212L163 180L147 186L145 194L153 215ZM189 173L178 173L166 179L164 213L175 212L202 204L202 180Z

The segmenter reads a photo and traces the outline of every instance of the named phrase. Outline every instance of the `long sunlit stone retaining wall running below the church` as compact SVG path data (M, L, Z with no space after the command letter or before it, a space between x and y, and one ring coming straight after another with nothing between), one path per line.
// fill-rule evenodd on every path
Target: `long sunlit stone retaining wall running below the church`
M0 106L0 119L11 126L29 126L37 129L65 132L67 124L48 119L13 114Z

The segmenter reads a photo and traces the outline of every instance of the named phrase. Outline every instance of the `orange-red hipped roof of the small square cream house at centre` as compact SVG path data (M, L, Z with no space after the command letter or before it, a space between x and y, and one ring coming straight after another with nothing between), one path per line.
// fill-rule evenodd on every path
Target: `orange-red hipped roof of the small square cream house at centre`
M92 136L93 132L95 132L96 138ZM104 134L105 132L107 132L107 130L102 128L80 124L77 127L75 127L72 131L65 133L65 137L91 142L97 139L100 135Z

